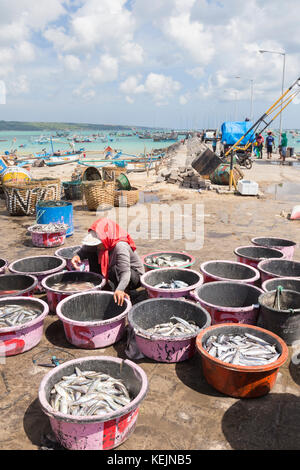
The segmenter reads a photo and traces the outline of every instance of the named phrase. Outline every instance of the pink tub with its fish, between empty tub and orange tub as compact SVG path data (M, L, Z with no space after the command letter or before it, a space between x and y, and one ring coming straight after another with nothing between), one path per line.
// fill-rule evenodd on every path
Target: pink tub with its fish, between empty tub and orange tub
M142 354L158 362L181 362L195 354L196 337L211 319L193 302L150 299L132 307L128 323Z

